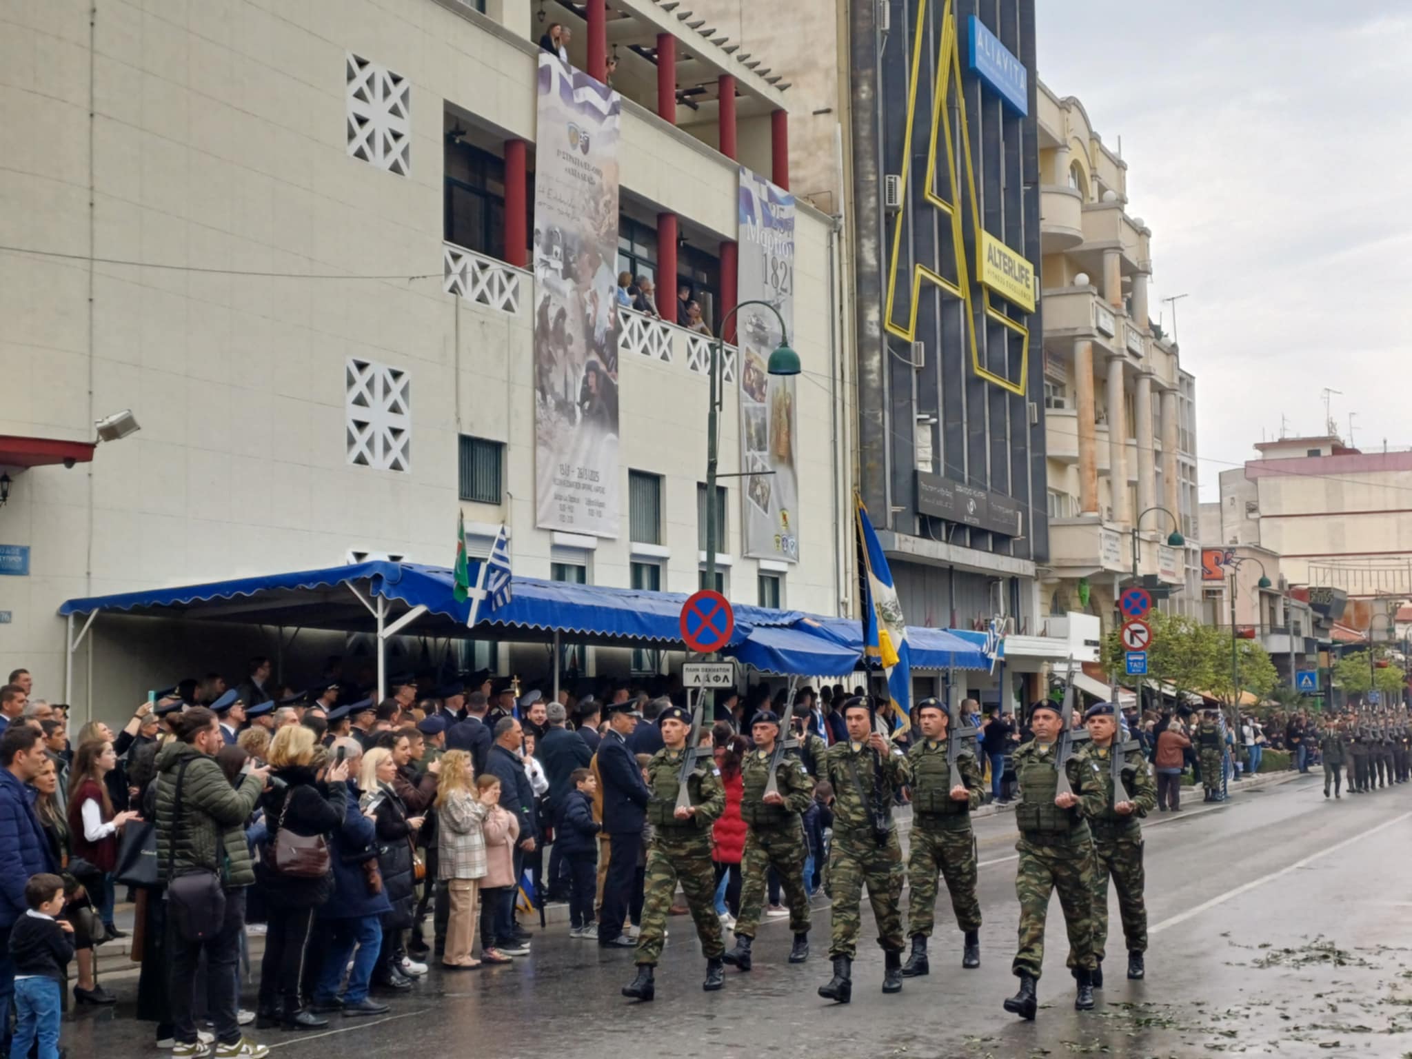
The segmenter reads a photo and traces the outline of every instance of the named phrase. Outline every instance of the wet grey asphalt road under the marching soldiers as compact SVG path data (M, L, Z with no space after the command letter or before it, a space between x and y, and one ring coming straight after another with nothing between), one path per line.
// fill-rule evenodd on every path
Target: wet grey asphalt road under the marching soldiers
M1017 904L1011 816L979 822L983 966L960 969L960 935L945 891L932 940L932 974L884 997L881 950L864 942L854 998L834 1007L815 990L827 979L827 909L818 898L813 956L785 963L788 921L767 921L755 969L727 969L726 988L700 990L705 962L688 918L674 916L658 967L658 998L638 1005L618 988L630 952L538 936L513 967L455 977L432 973L394 998L391 1017L325 1034L261 1031L275 1056L922 1056L1039 1059L1113 1055L1189 1059L1223 1053L1398 1059L1412 1053L1412 785L1326 802L1300 778L1197 801L1147 827L1147 981L1124 979L1117 902L1106 988L1093 1012L1073 1011L1073 981L1058 899L1051 905L1039 1018L1001 1010ZM904 907L907 894L904 894ZM866 902L864 902L866 907ZM950 923L952 929L942 929ZM537 933L538 933L538 928ZM729 943L727 938L727 943ZM116 1008L83 1010L65 1024L71 1059L158 1055L151 1025L131 1018L136 979L109 983ZM247 1007L253 997L247 994ZM748 1049L748 1051L747 1051Z

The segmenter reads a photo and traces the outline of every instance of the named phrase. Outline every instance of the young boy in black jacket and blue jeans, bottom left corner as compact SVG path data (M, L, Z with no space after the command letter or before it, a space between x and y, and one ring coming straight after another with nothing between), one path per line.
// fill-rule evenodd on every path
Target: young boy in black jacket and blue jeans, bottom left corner
M28 1056L38 1039L38 1059L59 1059L59 1005L73 959L73 928L55 919L64 911L64 880L47 873L30 875L24 901L30 911L10 928L18 1015L10 1053Z

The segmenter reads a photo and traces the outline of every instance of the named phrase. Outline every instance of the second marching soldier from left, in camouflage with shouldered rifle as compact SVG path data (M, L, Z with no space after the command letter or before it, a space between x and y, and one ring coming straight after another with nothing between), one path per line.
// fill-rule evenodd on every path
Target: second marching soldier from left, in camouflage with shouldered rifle
M775 777L777 791L765 794L770 764L779 738L779 717L772 710L755 714L750 727L755 748L740 762L740 816L746 822L746 851L741 857L744 881L740 892L740 918L736 921L736 947L726 953L726 963L750 970L750 946L760 926L760 905L765 899L770 868L779 873L779 884L789 905L789 929L794 947L789 963L809 959L809 891L803 885L803 861L809 844L803 836L801 813L813 802L813 779L796 757L785 757Z

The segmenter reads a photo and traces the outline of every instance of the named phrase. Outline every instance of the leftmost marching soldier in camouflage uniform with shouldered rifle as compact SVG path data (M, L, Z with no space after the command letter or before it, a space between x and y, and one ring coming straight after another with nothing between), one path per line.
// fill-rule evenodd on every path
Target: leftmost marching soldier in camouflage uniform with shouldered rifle
M712 758L698 758L686 781L690 808L678 809L682 757L692 733L692 717L681 706L671 706L662 710L658 726L665 746L652 754L645 770L647 785L652 789L652 798L647 803L652 842L647 849L642 929L635 953L637 977L623 987L624 997L637 1000L652 1000L657 993L652 970L662 955L666 912L672 907L678 880L706 956L706 981L702 988L712 991L724 984L722 956L726 945L722 942L720 918L716 915L716 871L710 861L710 843L712 823L726 812L726 788L720 784L720 771Z

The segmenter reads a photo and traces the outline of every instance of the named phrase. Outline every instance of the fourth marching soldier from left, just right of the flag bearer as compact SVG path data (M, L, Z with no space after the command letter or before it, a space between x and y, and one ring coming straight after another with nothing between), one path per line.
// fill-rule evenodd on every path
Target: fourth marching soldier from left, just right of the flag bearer
M912 895L907 907L907 932L912 955L902 964L902 977L928 974L926 939L936 922L936 875L946 880L956 925L964 932L962 967L980 967L980 901L976 899L976 834L970 815L980 808L984 785L976 764L976 740L956 758L962 782L952 786L949 764L950 714L938 699L916 706L922 737L907 758L912 767L912 849L907 877Z

